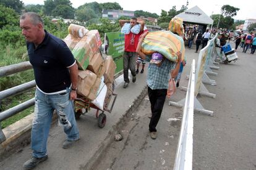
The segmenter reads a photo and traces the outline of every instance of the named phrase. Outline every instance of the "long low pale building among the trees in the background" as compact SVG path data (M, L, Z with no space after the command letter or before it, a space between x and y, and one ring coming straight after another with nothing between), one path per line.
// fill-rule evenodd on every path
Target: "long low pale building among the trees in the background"
M119 17L134 17L134 11L130 10L114 10L114 9L103 9L102 17L108 18L109 20L118 20Z

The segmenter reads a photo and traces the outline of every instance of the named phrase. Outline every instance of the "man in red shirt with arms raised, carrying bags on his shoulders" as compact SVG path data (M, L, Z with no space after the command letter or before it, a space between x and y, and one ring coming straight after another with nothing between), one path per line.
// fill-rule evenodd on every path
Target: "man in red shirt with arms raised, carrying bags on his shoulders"
M143 33L143 28L145 23L144 22L137 22L137 18L133 17L130 20L119 20L120 26L124 26L124 23L130 23L130 28L134 27L137 24L140 24L140 32L139 34L134 34L130 31L129 34L125 34L124 36L124 88L128 87L130 80L129 80L129 72L132 73L132 83L136 81L136 48L139 42L139 37Z

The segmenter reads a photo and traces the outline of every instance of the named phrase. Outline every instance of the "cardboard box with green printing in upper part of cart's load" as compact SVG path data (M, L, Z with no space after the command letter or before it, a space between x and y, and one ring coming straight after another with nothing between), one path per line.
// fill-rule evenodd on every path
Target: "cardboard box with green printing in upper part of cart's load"
M89 60L93 56L93 52L90 46L88 46L87 38L85 36L75 45L72 54L77 60L79 70L86 70L89 65Z

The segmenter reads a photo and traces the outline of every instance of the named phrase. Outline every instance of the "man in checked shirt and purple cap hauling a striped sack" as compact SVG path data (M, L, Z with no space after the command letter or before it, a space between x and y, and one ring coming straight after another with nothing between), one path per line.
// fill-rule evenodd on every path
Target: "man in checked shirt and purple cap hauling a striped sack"
M151 56L145 55L141 49L143 38L145 38L147 33L148 32L142 34L136 52L142 59L150 62L147 75L148 97L150 99L152 113L149 131L151 139L156 139L156 125L160 119L164 101L166 99L170 72L176 65L175 69L172 71L172 77L175 78L177 76L181 64L181 53L178 52L177 54L177 64L165 59L163 55L158 52L153 53Z

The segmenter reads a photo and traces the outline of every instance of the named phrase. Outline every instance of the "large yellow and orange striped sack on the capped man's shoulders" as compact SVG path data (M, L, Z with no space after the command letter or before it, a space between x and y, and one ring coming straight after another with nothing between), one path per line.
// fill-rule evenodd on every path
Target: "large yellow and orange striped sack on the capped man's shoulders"
M159 52L166 59L177 62L177 52L182 53L184 59L185 46L184 40L171 31L152 31L145 36L142 42L142 52L146 55L152 55Z

